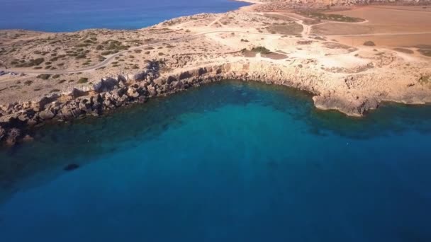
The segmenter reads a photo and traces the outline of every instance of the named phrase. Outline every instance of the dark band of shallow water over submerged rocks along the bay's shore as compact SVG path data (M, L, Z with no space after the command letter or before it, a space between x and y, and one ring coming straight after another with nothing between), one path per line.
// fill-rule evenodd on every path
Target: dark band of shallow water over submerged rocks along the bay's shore
M210 83L103 117L47 125L34 131L34 142L0 149L0 202L18 189L38 186L65 173L64 168L75 161L81 162L77 166L85 166L82 161L128 149L179 127L183 114L250 103L286 113L304 122L308 132L315 135L371 139L412 130L431 132L431 106L386 104L367 117L350 118L316 110L310 95L292 88L241 81ZM42 179L29 179L42 171Z

